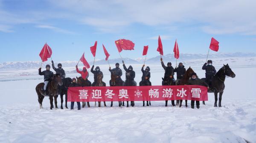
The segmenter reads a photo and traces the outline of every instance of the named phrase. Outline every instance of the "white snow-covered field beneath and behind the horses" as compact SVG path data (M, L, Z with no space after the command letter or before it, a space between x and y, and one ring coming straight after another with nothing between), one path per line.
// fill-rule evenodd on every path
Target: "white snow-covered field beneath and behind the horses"
M132 65L139 83L142 65ZM43 77L15 80L11 76L9 81L0 81L0 143L256 143L256 67L229 65L236 77L226 78L222 107L213 107L214 95L208 93L209 101L201 103L200 109L191 109L190 101L187 108L184 101L181 108L171 107L171 102L164 107L165 101L142 107L142 102L135 101L135 107L128 108L118 107L117 102L114 107L107 102L108 107L99 108L91 102L93 106L81 110L76 103L74 110L70 110L70 103L69 109L49 110L48 98L39 109L35 86ZM152 84L160 85L162 67L149 66ZM201 66L192 68L203 78ZM100 67L109 85L108 65ZM220 67L216 65L216 70ZM1 73L2 77L8 72ZM67 75L75 76L79 74ZM89 80L93 80L91 73Z

